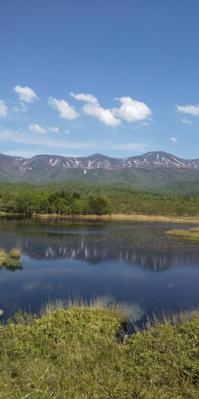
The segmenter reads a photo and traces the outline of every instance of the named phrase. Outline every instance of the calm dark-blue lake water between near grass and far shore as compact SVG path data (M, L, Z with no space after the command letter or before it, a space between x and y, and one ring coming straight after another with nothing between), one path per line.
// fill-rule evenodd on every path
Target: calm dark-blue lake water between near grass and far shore
M125 302L142 323L161 310L199 306L199 242L168 237L191 225L0 219L0 246L21 249L22 270L0 268L4 320L19 308L37 312L75 291L105 305Z

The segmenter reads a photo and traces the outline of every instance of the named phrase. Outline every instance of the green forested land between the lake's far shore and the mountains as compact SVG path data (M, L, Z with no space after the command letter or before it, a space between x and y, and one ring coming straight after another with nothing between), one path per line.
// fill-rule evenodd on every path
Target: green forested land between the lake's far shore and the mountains
M126 184L0 184L0 211L67 215L199 215L199 197L135 191Z

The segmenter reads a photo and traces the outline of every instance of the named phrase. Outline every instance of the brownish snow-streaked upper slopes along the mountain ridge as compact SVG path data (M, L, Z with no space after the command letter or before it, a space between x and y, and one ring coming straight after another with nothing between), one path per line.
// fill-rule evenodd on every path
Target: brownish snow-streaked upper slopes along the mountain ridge
M9 163L19 175L23 176L27 173L31 174L49 174L49 170L53 168L57 175L60 175L72 168L82 169L86 174L88 169L105 169L105 170L121 170L124 168L157 168L165 167L182 169L199 170L199 159L185 160L163 151L148 152L143 155L129 158L110 158L101 154L94 154L90 157L62 157L37 155L32 158L10 157L0 154L0 162ZM50 169L49 169L50 167ZM35 175L34 175L35 176ZM38 178L37 176L35 176Z

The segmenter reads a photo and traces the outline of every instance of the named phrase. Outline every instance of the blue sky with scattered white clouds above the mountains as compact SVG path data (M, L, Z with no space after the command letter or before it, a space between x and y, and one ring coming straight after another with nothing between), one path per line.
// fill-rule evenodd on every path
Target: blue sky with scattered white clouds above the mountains
M199 1L0 2L0 152L199 158Z

